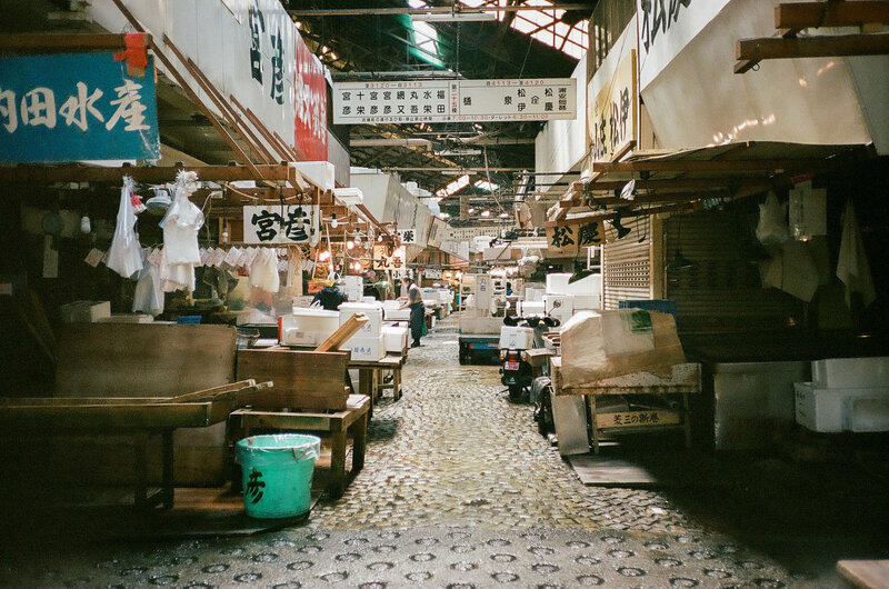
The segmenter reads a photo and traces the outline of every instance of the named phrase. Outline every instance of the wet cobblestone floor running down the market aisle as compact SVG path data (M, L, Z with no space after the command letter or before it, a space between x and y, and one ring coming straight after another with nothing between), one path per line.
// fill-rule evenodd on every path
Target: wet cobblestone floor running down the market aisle
M497 367L458 365L455 328L411 350L403 397L374 409L364 470L306 526L74 542L60 521L51 542L3 537L0 587L845 587L837 558L889 555L871 493L861 526L813 533L805 500L799 519L769 519L761 506L796 491L768 479L585 487L530 407L507 402ZM746 501L758 485L766 502Z

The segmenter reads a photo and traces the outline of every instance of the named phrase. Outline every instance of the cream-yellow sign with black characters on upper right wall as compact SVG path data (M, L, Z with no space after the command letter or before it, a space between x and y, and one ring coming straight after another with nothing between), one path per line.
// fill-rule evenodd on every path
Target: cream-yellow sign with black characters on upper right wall
M627 147L637 143L637 93L636 51L632 50L592 103L589 129L593 161L612 161Z

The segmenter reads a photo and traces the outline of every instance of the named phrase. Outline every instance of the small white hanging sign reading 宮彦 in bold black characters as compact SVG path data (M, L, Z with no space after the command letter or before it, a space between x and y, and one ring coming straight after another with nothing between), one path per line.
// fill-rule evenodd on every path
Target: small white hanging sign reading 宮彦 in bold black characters
M320 210L309 204L243 208L244 243L311 243L320 238Z

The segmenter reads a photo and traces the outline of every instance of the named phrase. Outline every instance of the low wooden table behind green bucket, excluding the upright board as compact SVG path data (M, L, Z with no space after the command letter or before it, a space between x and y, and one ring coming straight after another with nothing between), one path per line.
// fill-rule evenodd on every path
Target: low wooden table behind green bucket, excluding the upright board
M330 435L330 477L327 490L339 498L346 486L364 467L370 397L350 395L346 411L314 413L308 411L257 411L240 409L231 413L229 423L237 431L234 439L247 438L250 430L311 431ZM346 446L352 438L352 468L346 471Z

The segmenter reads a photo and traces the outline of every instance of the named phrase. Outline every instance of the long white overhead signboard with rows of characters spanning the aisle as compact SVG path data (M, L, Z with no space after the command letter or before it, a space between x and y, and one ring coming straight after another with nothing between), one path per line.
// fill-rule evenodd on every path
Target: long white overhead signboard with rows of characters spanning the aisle
M334 124L545 121L577 117L572 78L333 84Z

